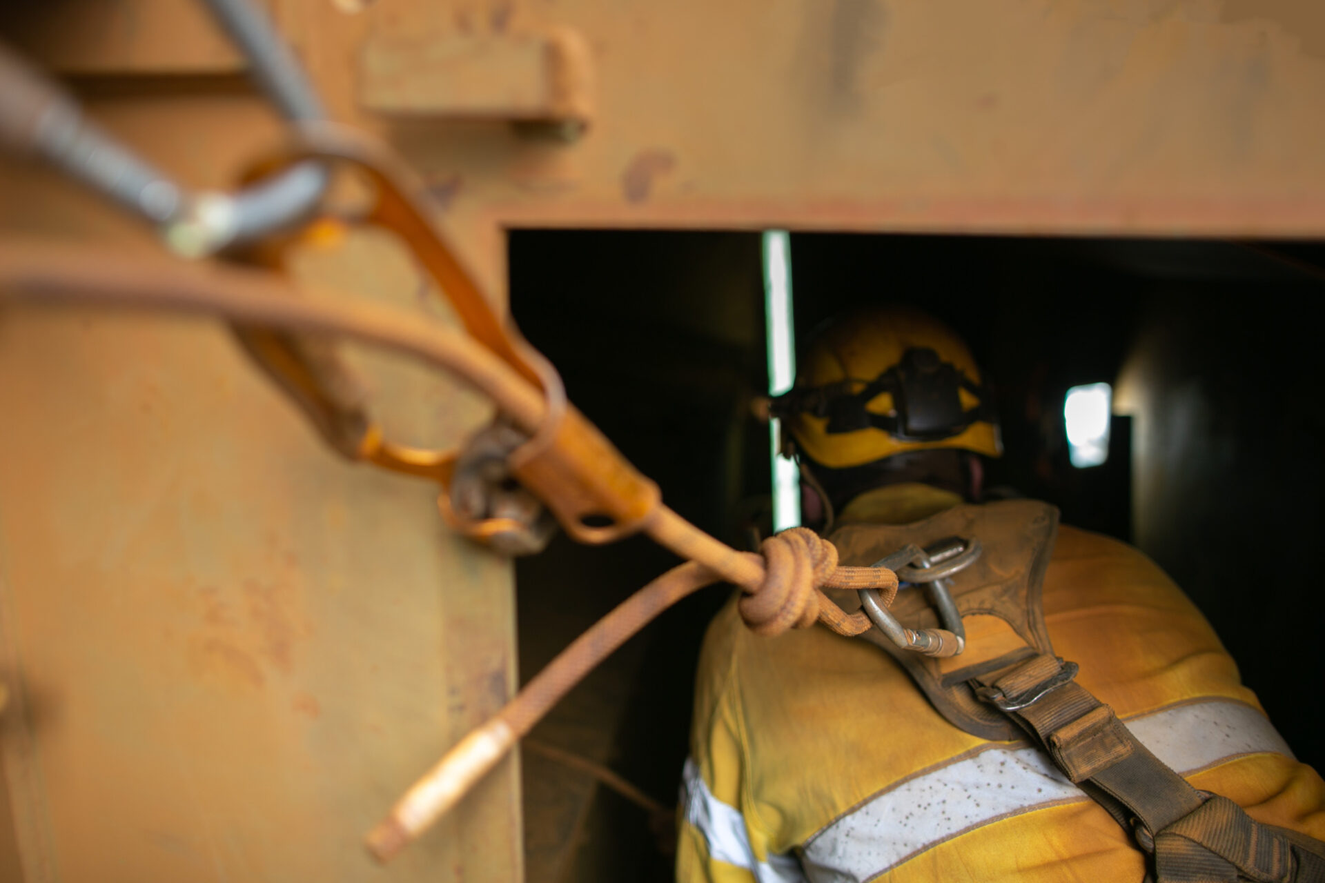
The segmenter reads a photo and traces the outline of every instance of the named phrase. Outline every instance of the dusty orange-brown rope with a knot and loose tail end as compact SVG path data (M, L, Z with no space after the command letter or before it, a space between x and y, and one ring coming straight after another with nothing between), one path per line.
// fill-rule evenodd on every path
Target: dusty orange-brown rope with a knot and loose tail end
M450 327L364 301L309 299L265 273L11 240L0 244L0 302L7 299L204 314L290 332L343 336L449 371L493 398L525 432L535 432L547 412L542 395L527 379ZM368 847L379 859L398 853L450 809L590 670L692 592L723 580L741 586L741 616L763 635L804 629L816 621L844 635L871 627L863 612L845 613L823 593L824 588L878 589L885 604L897 594L892 571L839 567L836 547L803 527L766 539L761 555L737 552L666 506L657 507L644 531L688 563L657 577L594 624L420 778L370 833Z

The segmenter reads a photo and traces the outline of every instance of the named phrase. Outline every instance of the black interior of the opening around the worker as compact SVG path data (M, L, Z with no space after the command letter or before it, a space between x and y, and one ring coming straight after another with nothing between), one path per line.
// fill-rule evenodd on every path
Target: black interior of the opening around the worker
M767 389L757 233L517 230L511 307L570 397L681 515L745 545L768 531ZM1204 610L1297 756L1325 763L1310 688L1325 613L1316 395L1325 254L1313 244L792 234L800 339L857 302L921 306L992 383L1006 454L987 486L1128 540ZM1104 466L1068 461L1063 400L1114 387ZM648 540L554 540L519 561L527 679L674 560ZM529 880L670 879L669 813L709 589L617 651L523 752ZM562 752L572 752L566 757ZM647 810L583 761L641 789Z

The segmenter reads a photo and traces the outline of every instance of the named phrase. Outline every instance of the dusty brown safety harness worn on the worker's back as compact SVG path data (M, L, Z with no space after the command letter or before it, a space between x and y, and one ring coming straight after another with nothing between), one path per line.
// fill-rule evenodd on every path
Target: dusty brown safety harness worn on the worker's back
M900 650L878 631L861 637L897 659L954 725L984 739L1028 737L1043 749L1151 857L1146 880L1325 880L1325 842L1256 822L1235 802L1192 788L1076 683L1076 663L1055 655L1041 581L1056 527L1053 507L1007 500L959 506L909 526L848 526L832 541L845 563L861 563L894 556L898 548L951 548L953 537L979 537L983 553L959 572L949 569L941 594L958 616L998 617L1023 646L954 670L951 662ZM897 572L922 581L922 569ZM868 609L869 596L861 594ZM889 609L912 627L945 618L918 592L901 592Z

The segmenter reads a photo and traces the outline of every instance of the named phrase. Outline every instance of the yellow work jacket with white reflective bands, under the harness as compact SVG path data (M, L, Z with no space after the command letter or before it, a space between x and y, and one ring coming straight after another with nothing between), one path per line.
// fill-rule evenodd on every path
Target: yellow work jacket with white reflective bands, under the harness
M843 522L961 500L901 485ZM1325 838L1325 782L1293 760L1200 612L1137 549L1060 527L1044 576L1055 651L1195 788ZM967 646L980 641L967 625ZM1141 880L1117 822L1026 743L949 724L878 647L827 629L762 638L734 600L697 678L677 854L713 880Z

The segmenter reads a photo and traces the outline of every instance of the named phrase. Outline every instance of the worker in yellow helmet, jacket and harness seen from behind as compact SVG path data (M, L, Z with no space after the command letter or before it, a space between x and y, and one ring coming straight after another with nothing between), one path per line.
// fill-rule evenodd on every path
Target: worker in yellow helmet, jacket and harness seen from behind
M761 637L733 598L698 666L681 883L1325 878L1325 784L1178 586L1048 504L977 504L1002 450L957 335L844 315L772 413L841 561L901 551L890 612L963 650ZM954 549L965 569L926 582Z

